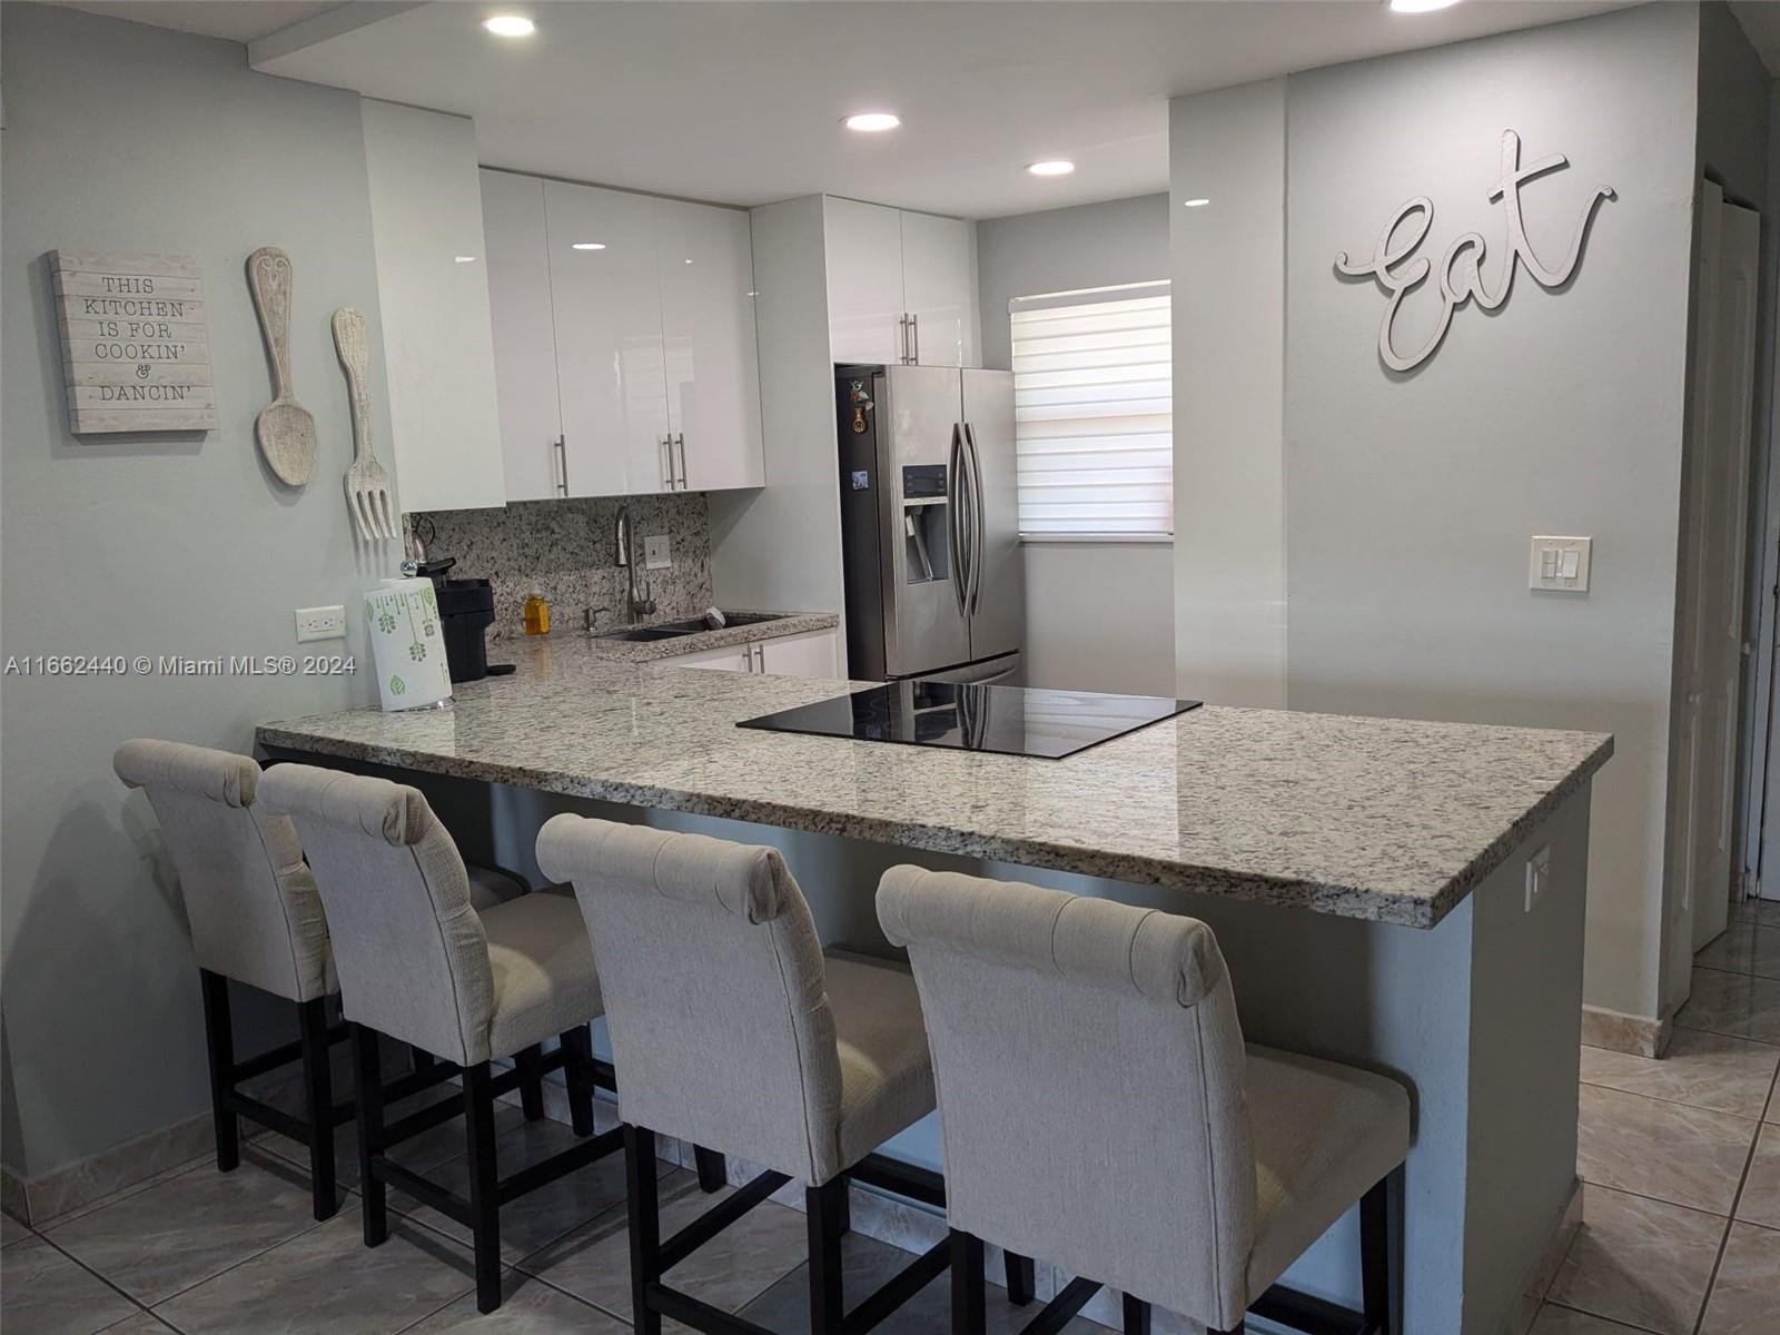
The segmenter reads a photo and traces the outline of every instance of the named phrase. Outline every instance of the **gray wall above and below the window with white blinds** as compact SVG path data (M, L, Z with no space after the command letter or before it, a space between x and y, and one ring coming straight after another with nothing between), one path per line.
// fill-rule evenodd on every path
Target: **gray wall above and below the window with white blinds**
M979 222L983 365L1011 367L1015 297L1166 276L1166 194ZM1173 694L1168 543L1025 543L1022 555L1031 685Z

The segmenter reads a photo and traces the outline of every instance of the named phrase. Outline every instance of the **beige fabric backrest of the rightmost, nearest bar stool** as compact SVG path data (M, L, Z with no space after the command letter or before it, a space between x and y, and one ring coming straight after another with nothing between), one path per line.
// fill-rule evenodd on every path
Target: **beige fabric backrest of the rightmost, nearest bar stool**
M918 867L878 920L920 988L952 1226L1235 1326L1255 1155L1210 927Z

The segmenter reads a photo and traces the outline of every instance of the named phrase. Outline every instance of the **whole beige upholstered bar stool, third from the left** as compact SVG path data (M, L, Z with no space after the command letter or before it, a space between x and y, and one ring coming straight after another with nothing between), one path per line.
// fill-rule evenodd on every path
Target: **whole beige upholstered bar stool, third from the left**
M639 1335L659 1335L662 1317L708 1335L767 1335L662 1274L792 1178L805 1184L815 1335L870 1330L938 1276L945 1241L846 1310L849 1169L933 1109L910 975L824 958L776 849L557 815L538 837L538 863L573 883L600 963ZM659 1132L767 1171L664 1241Z

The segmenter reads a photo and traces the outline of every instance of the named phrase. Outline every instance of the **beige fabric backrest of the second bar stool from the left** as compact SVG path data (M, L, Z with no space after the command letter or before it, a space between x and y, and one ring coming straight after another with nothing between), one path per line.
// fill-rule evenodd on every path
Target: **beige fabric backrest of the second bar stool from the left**
M313 765L272 765L260 799L303 837L333 927L345 1018L447 1061L488 1061L488 936L457 846L427 799Z

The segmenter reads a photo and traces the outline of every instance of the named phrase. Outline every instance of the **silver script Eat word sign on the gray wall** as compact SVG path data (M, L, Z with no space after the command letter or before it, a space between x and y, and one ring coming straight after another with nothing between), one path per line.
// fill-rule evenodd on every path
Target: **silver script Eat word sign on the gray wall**
M1508 294L1515 285L1515 269L1520 265L1525 265L1533 281L1543 288L1563 287L1570 281L1570 274L1575 272L1577 263L1582 260L1582 246L1588 242L1588 230L1595 221L1595 210L1600 208L1602 199L1616 198L1613 187L1595 187L1588 203L1582 205L1581 217L1577 217L1575 233L1570 237L1570 251L1556 265L1547 265L1540 260L1533 240L1527 237L1525 219L1520 214L1520 187L1568 166L1570 158L1563 153L1549 153L1522 167L1520 135L1513 130L1502 132L1502 174L1486 196L1490 203L1501 201L1508 222L1508 256L1502 262L1502 276L1497 279L1499 285L1493 290L1483 276L1486 244L1477 231L1454 237L1445 255L1440 256L1438 265L1426 255L1415 255L1428 239L1428 230L1435 221L1435 206L1428 196L1415 196L1390 215L1369 260L1353 263L1347 260L1347 251L1335 255L1335 271L1339 274L1347 278L1376 278L1378 285L1390 294L1385 317L1378 326L1380 361L1392 370L1413 370L1422 365L1440 349L1442 340L1445 340L1447 328L1452 324L1452 312L1472 299L1483 310L1497 310L1508 301ZM1399 352L1394 338L1397 312L1403 308L1403 299L1426 283L1429 276L1440 279L1440 320L1420 347Z

